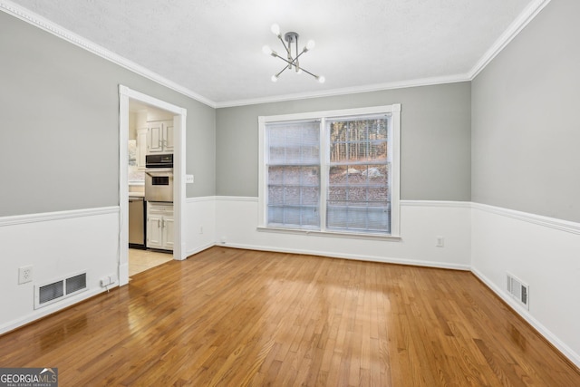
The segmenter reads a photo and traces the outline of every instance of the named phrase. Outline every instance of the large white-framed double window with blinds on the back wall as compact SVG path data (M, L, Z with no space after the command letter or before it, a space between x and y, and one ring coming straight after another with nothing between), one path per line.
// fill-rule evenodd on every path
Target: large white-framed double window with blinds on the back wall
M398 236L400 109L260 117L260 227Z

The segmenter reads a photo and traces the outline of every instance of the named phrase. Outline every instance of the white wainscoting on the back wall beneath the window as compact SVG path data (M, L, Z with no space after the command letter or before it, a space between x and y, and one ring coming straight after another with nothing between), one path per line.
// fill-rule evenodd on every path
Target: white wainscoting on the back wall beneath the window
M403 201L401 238L392 240L258 230L257 206L257 198L216 198L217 244L469 270L469 203Z

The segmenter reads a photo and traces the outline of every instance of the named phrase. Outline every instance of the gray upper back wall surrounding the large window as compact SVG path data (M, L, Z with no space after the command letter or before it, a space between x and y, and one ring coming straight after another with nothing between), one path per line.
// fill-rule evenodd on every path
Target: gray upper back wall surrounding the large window
M257 117L401 103L401 198L466 200L470 82L218 109L216 193L257 196Z

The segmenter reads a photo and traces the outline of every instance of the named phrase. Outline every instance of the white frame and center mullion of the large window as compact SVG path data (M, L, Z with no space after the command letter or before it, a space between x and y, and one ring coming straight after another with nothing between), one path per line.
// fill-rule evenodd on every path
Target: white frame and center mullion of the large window
M327 179L324 167L327 166L326 160L330 157L328 152L330 147L328 144L328 133L326 132L326 120L334 117L345 116L359 116L366 114L391 114L391 137L388 142L389 152L391 154L391 234L378 233L354 233L341 231L328 231L325 229L325 213L326 213L326 197L321 194L320 202L320 216L323 220L320 230L304 230L297 228L282 228L282 227L267 227L267 182L266 182L266 124L278 121L298 121L298 120L320 120L320 165L321 169L321 189L326 189ZM357 109L343 109L335 111L312 111L305 113L283 114L275 116L259 116L258 117L258 230L261 231L275 231L284 233L297 234L321 234L326 236L337 237L363 237L363 238L400 238L400 215L401 215L401 194L400 194L400 180L401 180L401 104L396 103L392 105L373 106L368 108Z

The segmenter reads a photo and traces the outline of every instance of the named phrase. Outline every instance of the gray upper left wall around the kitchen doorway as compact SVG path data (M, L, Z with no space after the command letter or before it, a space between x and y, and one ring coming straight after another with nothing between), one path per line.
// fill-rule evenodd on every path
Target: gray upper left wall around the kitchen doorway
M119 204L119 84L188 110L187 196L215 193L215 110L0 12L0 216Z

